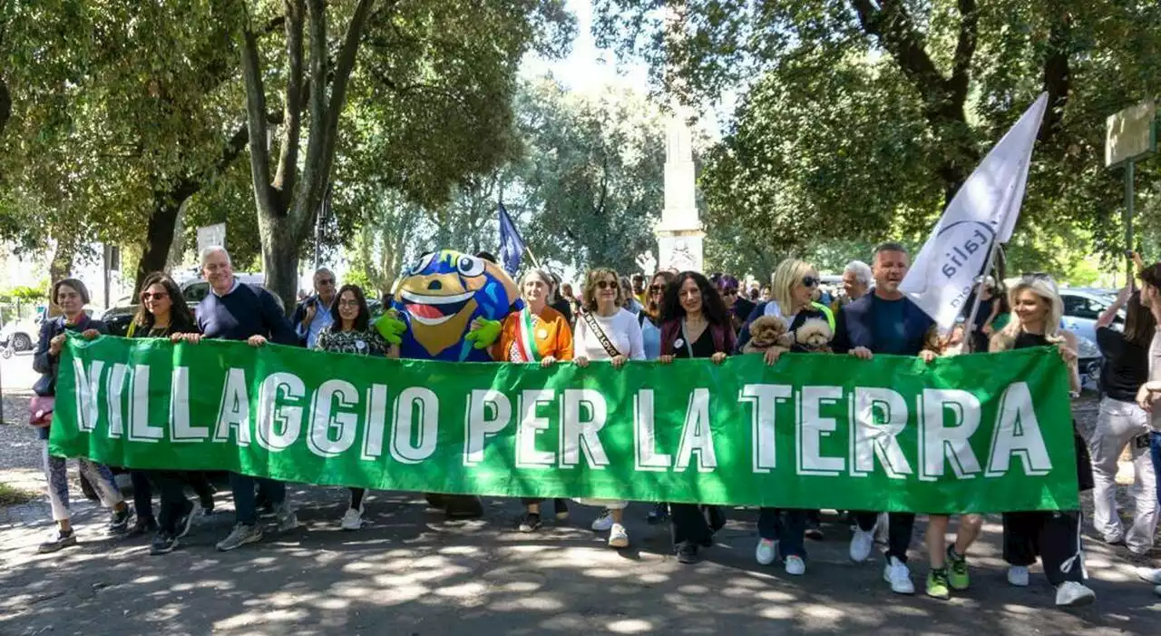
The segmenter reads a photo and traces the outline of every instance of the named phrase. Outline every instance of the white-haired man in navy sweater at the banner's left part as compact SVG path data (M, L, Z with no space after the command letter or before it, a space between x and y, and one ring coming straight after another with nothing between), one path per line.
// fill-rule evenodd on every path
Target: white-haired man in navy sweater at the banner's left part
M202 274L210 283L210 294L197 304L197 328L204 338L245 340L252 347L267 341L297 345L290 321L273 294L261 287L238 281L233 265L224 247L210 247L202 254ZM246 543L262 540L258 525L255 486L274 505L280 530L290 530L298 520L287 503L286 484L274 479L231 474L233 507L237 525L230 536L222 540L218 550L233 550Z

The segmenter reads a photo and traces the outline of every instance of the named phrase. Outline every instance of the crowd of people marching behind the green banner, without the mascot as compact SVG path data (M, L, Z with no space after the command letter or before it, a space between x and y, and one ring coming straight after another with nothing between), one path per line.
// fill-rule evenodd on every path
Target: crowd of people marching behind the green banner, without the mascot
M930 317L899 289L909 267L907 250L899 244L879 246L871 265L851 261L843 272L842 292L824 297L820 292L817 269L808 262L787 259L771 275L765 290L745 290L738 279L698 272L662 270L644 276L621 276L597 268L586 274L578 294L568 283L543 269L529 269L519 281L522 309L504 319L500 335L492 345L497 361L554 364L610 364L626 369L627 362L655 360L661 364L678 357L702 357L722 363L728 356L756 352L766 364L778 364L785 352L812 355L849 355L871 360L875 355L917 356L926 362L938 356L979 352L1000 352L1025 347L1057 347L1067 362L1072 389L1080 391L1076 369L1076 340L1061 330L1062 303L1057 284L1045 275L1027 275L1010 289L995 281L980 284L980 310L951 334L942 337ZM333 273L315 274L316 294L308 297L288 319L274 296L258 286L239 282L230 255L210 248L202 256L202 270L211 287L196 308L187 306L180 290L166 274L150 276L140 291L140 309L130 337L170 338L197 344L205 338L246 341L260 347L266 342L297 345L326 352L397 357L398 348L374 328L362 289L338 286ZM1161 484L1161 263L1141 267L1139 287L1126 287L1116 306L1101 318L1099 346L1105 355L1102 373L1099 421L1088 439L1076 433L1077 478L1082 490L1095 489L1095 523L1109 543L1127 543L1134 554L1152 548L1158 520ZM751 292L753 291L753 292ZM36 421L44 412L43 400L55 395L59 355L66 331L96 338L104 330L86 317L85 286L66 279L52 286L51 301L62 316L46 320L36 348L35 368L42 375L35 388L34 424L48 439L48 422ZM1124 308L1123 330L1113 328ZM770 334L772 338L767 338ZM784 360L784 362L786 362ZM793 363L783 367L793 373ZM41 411L36 411L41 400ZM1156 405L1156 409L1154 409ZM49 405L51 411L51 405ZM1075 431L1075 424L1074 424ZM1116 511L1115 482L1117 458L1130 448L1135 471L1133 523L1125 530ZM1091 461L1089 460L1091 456ZM56 528L41 544L43 552L77 543L70 526L68 486L65 460L51 457L45 443L45 472ZM202 507L212 506L212 492L197 474L131 470L132 511L122 499L113 474L89 460L79 460L80 470L96 486L101 503L111 509L113 533L154 533L152 554L173 550L190 529L197 506L186 496L193 489ZM279 530L296 527L297 519L281 482L243 475L230 476L236 525L217 543L219 550L233 550L261 541L260 512L273 514ZM159 494L153 513L152 492ZM349 489L349 506L339 526L356 530L362 525L365 491ZM626 529L627 501L579 499L580 505L597 506L600 514L594 530L608 533L608 545L623 548L630 537ZM535 533L541 528L542 501L522 500L524 513L518 529ZM677 559L691 564L699 552L714 543L714 534L726 523L726 513L716 506L651 503L650 523L669 520ZM556 519L569 514L564 499L553 503ZM956 540L947 543L950 519L928 515L926 549L929 571L925 591L946 599L969 585L967 556L980 534L982 519L961 511ZM823 539L820 511L762 508L758 511L759 540L755 559L763 565L781 561L789 576L807 571L807 539ZM886 535L882 577L900 594L915 593L909 566L916 514L881 511L849 511L852 522L849 554L853 562L871 559L877 533ZM130 525L130 520L136 521ZM1029 566L1039 558L1047 580L1055 588L1060 606L1091 602L1095 593L1084 585L1080 511L1027 511L1003 514L1003 556L1008 581L1029 585ZM1158 585L1161 569L1142 568L1141 578Z

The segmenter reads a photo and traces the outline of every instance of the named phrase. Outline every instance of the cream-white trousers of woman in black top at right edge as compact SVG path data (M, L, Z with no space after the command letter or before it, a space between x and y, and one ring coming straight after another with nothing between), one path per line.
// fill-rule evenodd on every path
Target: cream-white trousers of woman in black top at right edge
M1148 413L1133 403L1105 397L1101 400L1096 429L1089 440L1093 480L1096 483L1093 490L1093 522L1105 541L1124 540L1128 549L1137 554L1153 547L1153 533L1158 525L1156 474L1148 445L1139 447L1135 442L1138 436L1148 432ZM1116 482L1117 461L1125 447L1130 447L1133 460L1133 485L1128 494L1135 503L1133 525L1127 533L1117 514Z

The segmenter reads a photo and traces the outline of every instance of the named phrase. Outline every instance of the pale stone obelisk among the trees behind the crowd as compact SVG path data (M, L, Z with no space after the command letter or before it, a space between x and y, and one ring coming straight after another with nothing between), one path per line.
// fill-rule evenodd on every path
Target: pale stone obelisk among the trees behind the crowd
M665 208L657 236L657 268L701 272L701 221L694 193L693 136L677 109L665 125Z

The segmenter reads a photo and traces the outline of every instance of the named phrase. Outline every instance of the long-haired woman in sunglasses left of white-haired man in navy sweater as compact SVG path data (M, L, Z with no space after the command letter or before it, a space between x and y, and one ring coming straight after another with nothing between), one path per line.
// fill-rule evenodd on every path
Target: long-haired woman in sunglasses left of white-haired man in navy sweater
M134 316L128 338L171 338L197 331L181 288L167 274L154 272L142 281L140 304ZM150 554L172 552L178 540L189 532L194 505L186 499L186 484L193 486L203 511L214 509L214 487L202 472L174 470L130 470L134 483L134 509L137 521L130 536L157 530ZM153 516L153 486L161 493L161 506Z

